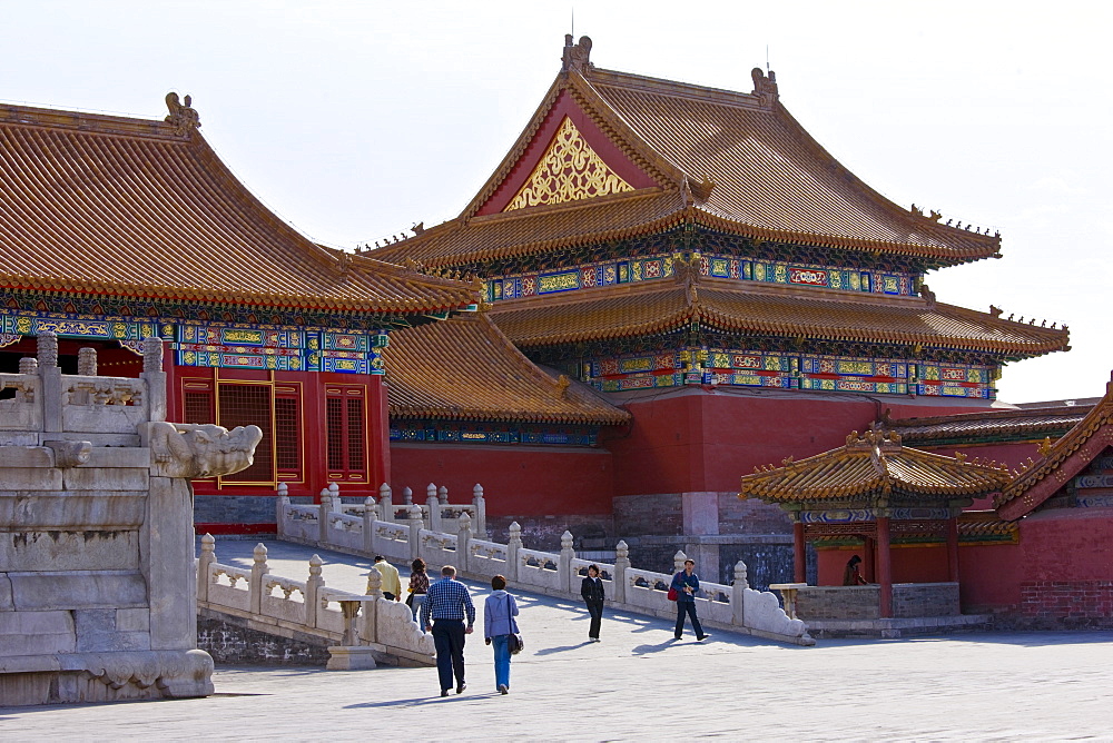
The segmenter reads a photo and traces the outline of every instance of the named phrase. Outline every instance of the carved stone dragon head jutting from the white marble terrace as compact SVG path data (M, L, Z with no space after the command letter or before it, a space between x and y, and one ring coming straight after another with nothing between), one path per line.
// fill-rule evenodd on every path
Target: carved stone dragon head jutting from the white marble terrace
M213 424L152 423L148 446L166 477L217 477L247 469L263 440L258 426L228 430Z

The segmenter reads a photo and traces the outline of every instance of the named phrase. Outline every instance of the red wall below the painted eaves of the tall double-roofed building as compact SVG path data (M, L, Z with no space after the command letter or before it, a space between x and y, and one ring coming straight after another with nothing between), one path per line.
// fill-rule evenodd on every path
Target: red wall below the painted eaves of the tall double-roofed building
M886 408L893 417L972 409L944 400L927 404L924 398L875 404L849 396L738 395L702 388L631 400L626 407L634 416L629 435L602 439L614 453L615 495L735 491L738 478L755 466L843 446L847 434L865 430Z

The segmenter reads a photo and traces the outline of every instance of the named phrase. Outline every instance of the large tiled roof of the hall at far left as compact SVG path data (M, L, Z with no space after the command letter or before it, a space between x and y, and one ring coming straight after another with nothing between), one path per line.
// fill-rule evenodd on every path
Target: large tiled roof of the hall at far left
M196 122L22 106L0 106L0 285L401 314L479 297L315 245L232 175Z

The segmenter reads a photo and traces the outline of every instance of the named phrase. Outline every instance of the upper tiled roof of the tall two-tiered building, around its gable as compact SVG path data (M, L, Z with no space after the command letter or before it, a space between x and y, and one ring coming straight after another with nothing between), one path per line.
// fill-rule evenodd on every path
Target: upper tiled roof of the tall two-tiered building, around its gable
M611 202L599 211L573 204L475 218L520 168L542 121L565 93L620 151L663 185L668 197L656 209L632 206L640 196L636 192L603 197ZM589 199L594 200L602 202ZM506 158L457 219L391 245L382 256L451 266L543 252L597 242L617 228L659 229L666 217L661 207L673 222L703 224L757 240L885 251L937 265L986 258L1001 247L996 235L949 227L869 188L805 131L780 103L776 82L760 70L755 70L754 92L740 93L584 65L558 76ZM570 212L554 215L564 209ZM639 209L651 214L639 215ZM495 227L523 218L512 227ZM561 224L554 228L553 222Z

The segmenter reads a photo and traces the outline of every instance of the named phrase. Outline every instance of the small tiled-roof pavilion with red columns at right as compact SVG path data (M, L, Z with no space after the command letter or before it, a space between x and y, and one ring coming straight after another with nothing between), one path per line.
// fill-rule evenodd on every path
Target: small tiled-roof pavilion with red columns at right
M894 616L894 543L945 543L947 579L957 587L958 516L1012 478L995 462L908 448L884 429L853 432L840 448L781 465L743 476L739 497L790 514L797 583L806 579L808 542L861 539L867 575L879 584L881 618Z

